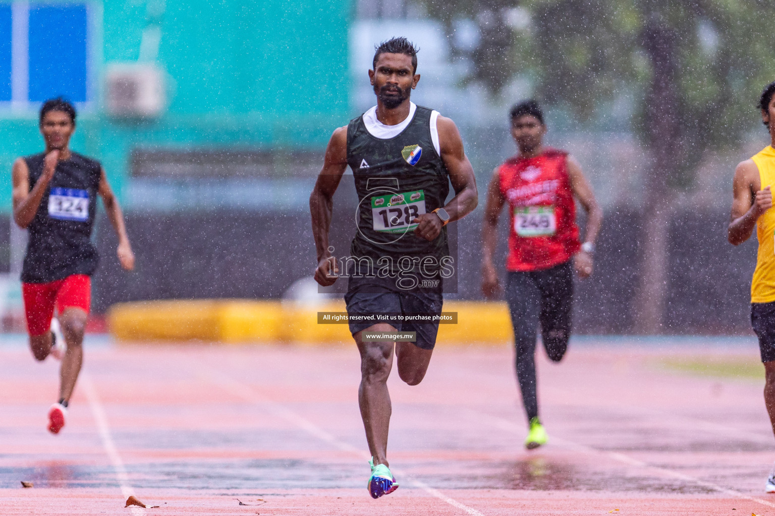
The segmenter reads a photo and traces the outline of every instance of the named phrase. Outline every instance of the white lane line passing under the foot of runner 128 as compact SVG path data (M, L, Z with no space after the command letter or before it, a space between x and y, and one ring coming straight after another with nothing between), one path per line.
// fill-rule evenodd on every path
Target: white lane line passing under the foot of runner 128
M262 408L268 407L272 412L274 412L275 415L278 415L281 418L294 423L294 425L298 426L298 428L304 430L309 435L316 437L317 439L321 439L322 441L325 441L326 443L329 443L338 449L352 453L360 460L366 461L371 458L368 453L364 453L361 449L336 439L336 437L332 436L329 432L326 432L324 429L320 428L318 425L315 425L315 423L309 421L308 419L305 419L297 412L292 411L290 408L285 407L280 403L274 402L273 400L267 399L266 396L261 395L255 389L251 388L250 385L236 381L234 378L231 378L220 371L215 371L212 368L206 371L200 370L199 373L203 378L206 378L208 381L212 381L212 383L217 384L224 391L229 392L231 395L234 395L237 398L242 398L245 402L248 402L251 405L261 405ZM391 470L394 473L403 473L401 470L397 470L395 468L391 468ZM471 514L471 516L484 516L484 514L474 509L474 507L461 504L454 498L446 496L439 490L430 487L428 484L425 484L420 480L410 477L409 482L415 485L415 487L424 490L431 496L439 498L439 500L444 501L453 507L457 507L461 511Z

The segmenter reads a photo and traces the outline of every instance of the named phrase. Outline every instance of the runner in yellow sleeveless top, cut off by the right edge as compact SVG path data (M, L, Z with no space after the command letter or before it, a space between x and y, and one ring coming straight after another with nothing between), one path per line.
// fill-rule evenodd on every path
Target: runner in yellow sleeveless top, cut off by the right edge
M732 215L727 237L733 245L748 240L756 227L759 253L751 282L751 325L759 337L764 363L764 404L775 433L775 81L764 88L759 101L762 121L770 131L770 145L735 169ZM765 485L775 493L775 466Z

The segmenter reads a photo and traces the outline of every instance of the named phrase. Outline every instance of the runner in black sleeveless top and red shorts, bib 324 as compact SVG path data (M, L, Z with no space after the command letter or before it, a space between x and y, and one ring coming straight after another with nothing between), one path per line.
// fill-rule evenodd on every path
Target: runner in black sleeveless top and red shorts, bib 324
M59 402L49 409L48 429L53 433L64 426L83 361L90 277L98 265L91 243L98 195L119 236L122 267L131 270L135 260L105 171L99 162L68 148L74 130L73 106L62 99L46 101L40 109L46 152L13 164L13 218L29 230L22 266L29 345L39 361L49 354L62 361ZM57 319L52 319L54 309Z

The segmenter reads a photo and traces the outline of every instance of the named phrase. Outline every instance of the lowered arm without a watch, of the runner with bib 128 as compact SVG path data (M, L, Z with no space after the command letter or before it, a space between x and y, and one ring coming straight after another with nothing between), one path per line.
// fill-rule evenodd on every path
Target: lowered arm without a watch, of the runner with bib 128
M337 128L331 135L325 149L323 168L315 181L315 188L309 196L309 212L312 214L312 235L315 237L315 250L318 255L318 267L315 269L315 281L322 286L333 285L336 275L330 275L331 265L336 274L336 258L329 252L329 228L333 214L333 196L342 175L347 168L347 127ZM332 263L333 262L333 263Z

